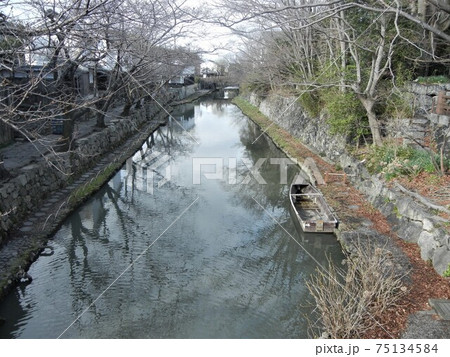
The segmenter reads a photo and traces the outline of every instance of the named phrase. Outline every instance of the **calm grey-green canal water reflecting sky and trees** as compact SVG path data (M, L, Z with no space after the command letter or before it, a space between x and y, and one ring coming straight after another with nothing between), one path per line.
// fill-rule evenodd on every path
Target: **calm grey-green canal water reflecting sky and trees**
M174 116L67 219L0 306L0 337L307 337L305 279L342 258L335 237L296 230L270 163L285 156L254 142L239 109L207 100Z

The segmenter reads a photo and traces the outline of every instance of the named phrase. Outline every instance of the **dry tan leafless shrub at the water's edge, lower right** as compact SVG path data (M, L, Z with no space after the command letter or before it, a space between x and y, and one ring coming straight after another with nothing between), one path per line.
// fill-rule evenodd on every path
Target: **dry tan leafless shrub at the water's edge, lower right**
M307 282L319 312L314 327L329 338L361 338L380 327L382 314L407 291L391 259L383 248L358 245L343 268L330 262L327 271L317 269Z

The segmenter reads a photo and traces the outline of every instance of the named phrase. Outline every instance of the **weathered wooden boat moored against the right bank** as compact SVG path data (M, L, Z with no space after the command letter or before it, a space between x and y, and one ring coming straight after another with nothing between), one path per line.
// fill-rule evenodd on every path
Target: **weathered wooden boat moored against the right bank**
M289 196L304 232L333 233L338 227L339 222L322 193L300 176L292 183Z

